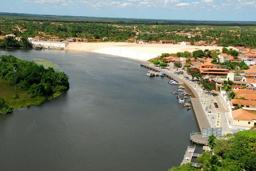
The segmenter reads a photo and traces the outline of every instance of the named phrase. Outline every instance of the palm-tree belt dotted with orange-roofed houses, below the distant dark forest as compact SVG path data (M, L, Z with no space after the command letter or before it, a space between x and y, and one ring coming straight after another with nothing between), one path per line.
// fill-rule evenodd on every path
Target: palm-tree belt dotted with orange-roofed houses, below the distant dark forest
M132 24L124 21L109 22L53 22L42 18L42 20L25 20L17 18L1 18L0 31L2 36L13 33L20 37L43 36L48 38L58 36L60 39L65 38L83 38L93 41L101 39L101 41L125 42L128 40L176 40L177 42L188 41L192 45L198 41L205 41L206 44L216 43L218 46L245 46L256 48L256 32L255 26L209 26L206 22L205 26L182 24L163 24L155 22L145 24L147 20L140 20L142 23ZM89 20L89 19L88 19ZM145 22L145 23L143 23ZM153 27L154 26L154 27ZM199 29L196 29L199 28ZM202 30L204 28L204 30ZM43 33L44 34L43 34ZM176 33L190 32L193 36L178 36ZM136 34L140 33L140 34ZM48 35L48 36L46 36ZM104 38L104 40L102 39Z

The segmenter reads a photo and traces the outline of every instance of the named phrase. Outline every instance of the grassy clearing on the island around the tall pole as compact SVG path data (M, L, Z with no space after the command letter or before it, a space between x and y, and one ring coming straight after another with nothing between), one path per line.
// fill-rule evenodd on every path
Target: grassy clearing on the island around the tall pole
M21 107L27 107L30 105L40 105L46 98L45 97L33 97L28 95L26 90L20 89L16 85L16 92L18 98L14 98L14 86L10 85L10 81L0 79L0 97L4 98L6 103L11 105L14 109Z

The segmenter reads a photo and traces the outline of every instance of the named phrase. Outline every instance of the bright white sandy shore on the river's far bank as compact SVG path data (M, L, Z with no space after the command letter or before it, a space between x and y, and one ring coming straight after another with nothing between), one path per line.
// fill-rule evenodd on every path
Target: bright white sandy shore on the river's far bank
M222 50L219 46L186 46L178 44L136 44L126 42L99 42L99 43L84 43L70 42L64 48L65 50L79 50L84 52L95 52L99 54L108 54L136 60L149 60L155 58L162 53L177 53L194 50Z

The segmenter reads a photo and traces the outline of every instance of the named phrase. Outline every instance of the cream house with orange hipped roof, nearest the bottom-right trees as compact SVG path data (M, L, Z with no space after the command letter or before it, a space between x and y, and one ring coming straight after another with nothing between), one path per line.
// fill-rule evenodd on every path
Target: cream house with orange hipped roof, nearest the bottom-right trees
M236 109L232 111L233 125L242 127L256 126L256 115L244 110Z

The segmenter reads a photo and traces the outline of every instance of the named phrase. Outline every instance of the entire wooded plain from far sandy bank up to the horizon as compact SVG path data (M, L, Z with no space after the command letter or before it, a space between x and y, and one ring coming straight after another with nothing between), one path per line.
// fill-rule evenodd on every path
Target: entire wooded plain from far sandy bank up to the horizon
M145 20L125 18L89 18L0 13L1 35L20 37L57 36L82 38L88 42L134 42L136 40L198 41L218 46L256 48L256 22L220 22L188 20ZM192 37L177 33L189 33Z

